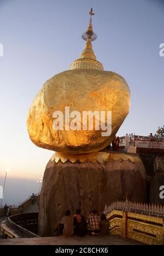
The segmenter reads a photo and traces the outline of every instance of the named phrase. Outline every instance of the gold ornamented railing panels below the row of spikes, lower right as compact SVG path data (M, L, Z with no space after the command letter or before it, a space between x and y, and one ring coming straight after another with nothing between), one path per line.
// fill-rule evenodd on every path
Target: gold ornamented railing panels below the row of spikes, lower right
M107 218L110 223L110 234L136 240L146 245L164 245L164 221L162 217L112 211Z

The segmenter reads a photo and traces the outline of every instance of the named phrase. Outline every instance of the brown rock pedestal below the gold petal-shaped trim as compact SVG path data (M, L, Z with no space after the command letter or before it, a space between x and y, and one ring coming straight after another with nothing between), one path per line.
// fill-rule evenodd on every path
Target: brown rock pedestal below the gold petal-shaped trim
M39 235L51 236L55 224L66 210L81 208L87 217L95 208L102 213L113 201L146 202L147 183L142 162L109 161L103 164L90 161L49 161L46 166L39 206Z

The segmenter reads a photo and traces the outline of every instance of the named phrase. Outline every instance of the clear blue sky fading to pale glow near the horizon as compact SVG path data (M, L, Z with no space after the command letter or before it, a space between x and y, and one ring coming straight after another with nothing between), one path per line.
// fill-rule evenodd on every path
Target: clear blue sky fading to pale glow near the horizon
M105 70L122 75L131 90L130 113L118 135L147 136L164 124L164 57L159 55L164 1L0 0L2 183L6 168L9 178L43 177L53 152L30 141L27 112L45 81L78 59L91 7L97 60Z

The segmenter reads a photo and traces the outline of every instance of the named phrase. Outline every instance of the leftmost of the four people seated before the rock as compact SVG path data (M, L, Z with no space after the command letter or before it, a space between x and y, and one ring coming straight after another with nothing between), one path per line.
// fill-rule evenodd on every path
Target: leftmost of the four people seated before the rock
M63 237L73 236L73 217L71 216L71 212L69 210L66 211L66 216L61 219L60 224L64 225Z

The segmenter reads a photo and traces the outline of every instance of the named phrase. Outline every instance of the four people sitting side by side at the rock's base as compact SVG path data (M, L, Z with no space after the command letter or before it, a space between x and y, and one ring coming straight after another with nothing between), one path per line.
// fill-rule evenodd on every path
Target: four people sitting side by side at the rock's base
M66 211L65 217L57 223L55 236L85 236L85 235L109 235L109 221L105 214L99 217L96 210L92 210L87 218L81 215L81 210L78 209L72 216L69 210Z

